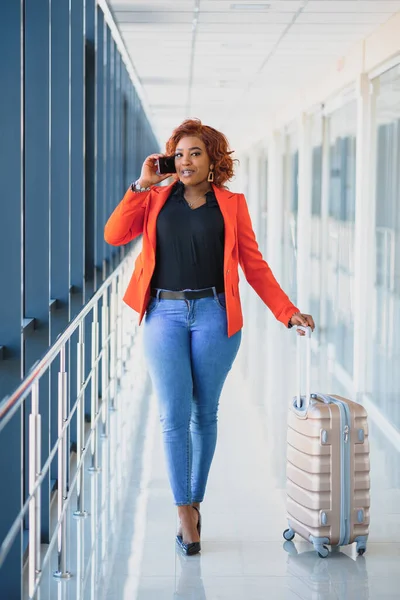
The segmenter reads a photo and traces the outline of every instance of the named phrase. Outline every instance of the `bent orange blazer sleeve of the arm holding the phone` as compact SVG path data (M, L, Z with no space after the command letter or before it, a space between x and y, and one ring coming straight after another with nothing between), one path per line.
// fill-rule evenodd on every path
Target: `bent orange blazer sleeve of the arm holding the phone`
M122 246L143 233L144 213L151 190L128 189L104 227L104 239L112 246Z

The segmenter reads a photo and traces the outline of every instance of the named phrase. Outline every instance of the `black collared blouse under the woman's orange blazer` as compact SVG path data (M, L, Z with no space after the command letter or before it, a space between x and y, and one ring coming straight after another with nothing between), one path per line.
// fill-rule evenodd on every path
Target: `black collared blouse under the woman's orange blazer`
M224 290L224 219L213 191L192 209L180 181L157 218L156 266L152 288Z

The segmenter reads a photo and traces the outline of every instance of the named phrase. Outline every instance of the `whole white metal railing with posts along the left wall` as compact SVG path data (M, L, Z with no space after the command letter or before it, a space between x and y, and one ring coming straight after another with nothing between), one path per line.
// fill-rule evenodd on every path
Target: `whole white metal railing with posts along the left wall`
M69 579L70 573L66 564L67 527L66 510L70 504L71 493L77 487L76 517L86 517L84 510L84 459L90 452L91 467L89 470L97 472L98 465L98 425L102 422L101 435L108 435L108 408L115 407L117 380L123 371L123 343L122 343L122 294L126 286L125 279L131 271L135 250L130 252L95 292L81 312L66 327L65 331L57 338L45 356L31 369L30 373L18 388L0 403L0 434L13 415L18 411L26 398L31 397L31 412L29 414L29 495L14 519L6 537L0 545L0 568L3 565L18 533L21 524L29 511L29 598L34 598L39 588L43 575L43 568L50 560L50 553L58 543L58 569L54 573L57 579ZM99 308L101 305L101 340L99 339ZM84 324L85 318L92 312L92 353L91 369L85 379L84 369ZM73 392L67 390L66 345L72 335L78 330L77 344L77 382ZM126 332L124 332L126 334ZM132 337L127 346L132 344ZM125 347L127 347L125 346ZM111 349L111 351L110 351ZM41 465L40 449L42 444L41 415L39 410L39 381L49 370L54 360L60 358L58 373L58 437L44 465ZM101 370L100 370L101 362ZM113 362L113 364L111 364ZM98 397L98 381L101 377L102 398L101 404ZM91 426L90 432L85 437L85 389L91 382ZM74 396L68 412L68 393ZM111 405L112 403L112 405ZM100 404L100 406L99 406ZM67 447L67 433L72 417L77 417L77 469L69 487L67 487L67 466L69 449ZM52 533L46 554L41 558L40 532L41 532L41 485L48 476L53 459L58 453L58 510L57 523Z

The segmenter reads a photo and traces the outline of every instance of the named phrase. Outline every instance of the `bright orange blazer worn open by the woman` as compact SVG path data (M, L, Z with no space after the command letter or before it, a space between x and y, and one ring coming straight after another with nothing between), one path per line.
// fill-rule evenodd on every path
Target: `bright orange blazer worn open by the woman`
M143 233L142 252L124 295L124 302L139 313L139 325L150 298L150 282L155 268L156 221L167 201L172 186L153 186L147 192L128 190L104 229L108 244L121 246ZM288 325L290 317L299 312L281 289L258 249L247 202L243 194L213 185L225 223L224 281L228 337L243 326L239 296L238 265L249 284L265 302L275 317Z

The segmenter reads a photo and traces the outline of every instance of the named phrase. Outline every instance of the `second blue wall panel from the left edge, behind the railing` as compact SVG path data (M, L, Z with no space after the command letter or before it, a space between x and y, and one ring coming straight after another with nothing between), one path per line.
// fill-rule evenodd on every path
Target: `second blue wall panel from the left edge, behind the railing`
M23 371L26 375L49 347L49 2L25 2L25 198L24 198L24 319L34 319L35 329L25 329ZM27 321L25 321L27 322ZM25 406L25 490L28 496L28 414ZM42 462L49 454L49 387L40 385ZM42 540L49 539L50 482L42 487Z

